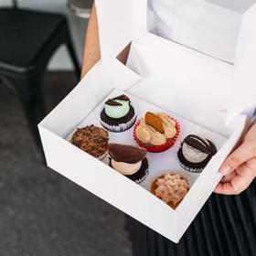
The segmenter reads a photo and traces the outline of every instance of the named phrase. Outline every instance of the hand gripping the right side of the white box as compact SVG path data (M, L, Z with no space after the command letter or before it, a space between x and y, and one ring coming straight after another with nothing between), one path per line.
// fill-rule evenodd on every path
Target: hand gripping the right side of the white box
M240 147L221 165L224 175L214 192L223 195L238 195L250 186L256 176L256 123L251 125Z

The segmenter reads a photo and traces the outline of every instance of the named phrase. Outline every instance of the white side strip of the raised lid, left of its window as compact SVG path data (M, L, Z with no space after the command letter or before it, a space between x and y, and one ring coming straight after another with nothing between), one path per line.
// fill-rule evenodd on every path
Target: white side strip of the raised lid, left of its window
M146 0L95 0L95 4L101 59L111 60L146 31Z

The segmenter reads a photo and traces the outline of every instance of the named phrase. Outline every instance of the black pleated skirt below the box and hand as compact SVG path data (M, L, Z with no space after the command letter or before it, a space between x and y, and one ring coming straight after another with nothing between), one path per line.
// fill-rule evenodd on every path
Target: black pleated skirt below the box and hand
M127 217L133 256L256 255L256 180L239 196L212 194L178 244Z

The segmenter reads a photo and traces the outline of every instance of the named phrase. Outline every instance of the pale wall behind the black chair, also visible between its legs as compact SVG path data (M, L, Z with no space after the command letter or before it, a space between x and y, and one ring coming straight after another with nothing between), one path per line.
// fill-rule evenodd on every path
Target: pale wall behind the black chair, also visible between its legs
M86 0L85 0L86 1ZM69 27L79 59L82 59L84 33L87 20L75 16L67 7L67 0L17 0L21 7L63 13L69 18ZM10 5L10 0L0 0L0 6ZM66 48L60 47L50 60L49 69L72 69Z

